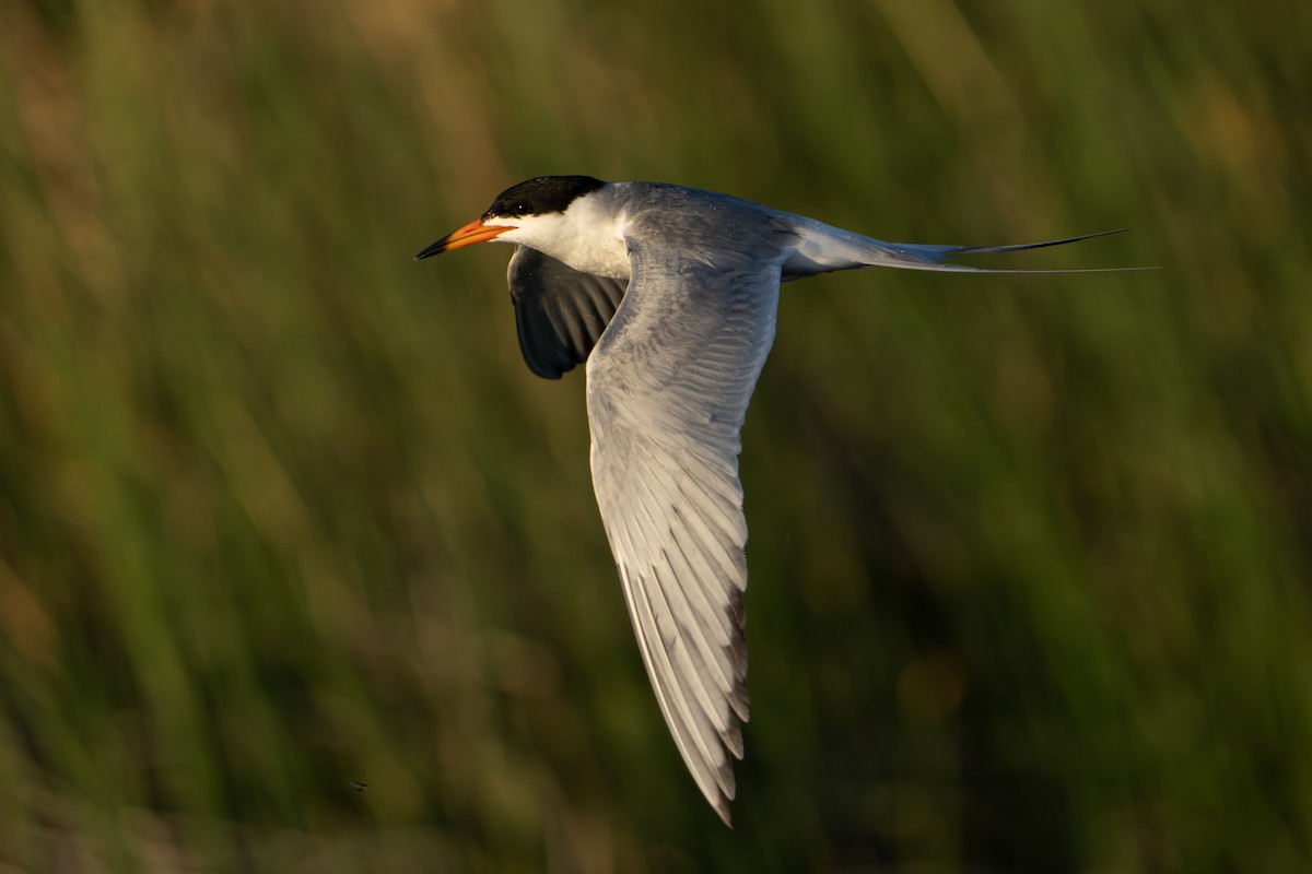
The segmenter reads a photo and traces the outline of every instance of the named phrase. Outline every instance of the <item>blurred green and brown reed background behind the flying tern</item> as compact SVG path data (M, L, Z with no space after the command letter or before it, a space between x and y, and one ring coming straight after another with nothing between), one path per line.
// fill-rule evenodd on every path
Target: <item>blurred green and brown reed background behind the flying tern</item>
M1312 870L1312 7L8 0L0 870ZM888 240L785 290L735 829L521 178ZM366 786L367 785L367 786Z

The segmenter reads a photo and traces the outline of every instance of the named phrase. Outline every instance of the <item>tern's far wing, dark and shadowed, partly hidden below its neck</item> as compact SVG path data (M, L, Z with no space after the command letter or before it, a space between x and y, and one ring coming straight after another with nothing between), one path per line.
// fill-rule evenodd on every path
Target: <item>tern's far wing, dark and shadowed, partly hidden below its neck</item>
M538 376L560 379L588 360L625 296L625 283L580 273L537 249L516 246L506 270L520 351Z

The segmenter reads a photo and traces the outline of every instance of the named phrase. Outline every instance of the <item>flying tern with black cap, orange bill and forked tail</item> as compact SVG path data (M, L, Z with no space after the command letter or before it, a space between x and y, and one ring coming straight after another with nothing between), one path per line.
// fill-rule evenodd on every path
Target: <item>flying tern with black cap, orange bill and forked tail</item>
M1106 273L945 258L1109 233L1119 231L1008 246L884 242L711 191L544 176L416 256L514 244L508 280L529 368L559 379L586 362L592 480L628 616L678 752L727 826L748 719L737 459L779 283L861 267Z

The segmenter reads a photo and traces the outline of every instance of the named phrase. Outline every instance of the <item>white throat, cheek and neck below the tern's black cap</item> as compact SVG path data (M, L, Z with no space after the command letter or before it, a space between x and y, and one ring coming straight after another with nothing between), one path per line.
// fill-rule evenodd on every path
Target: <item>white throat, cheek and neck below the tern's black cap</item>
M537 249L583 273L628 279L625 216L607 194L607 189L585 194L564 212L488 219L487 224L514 227L497 241Z

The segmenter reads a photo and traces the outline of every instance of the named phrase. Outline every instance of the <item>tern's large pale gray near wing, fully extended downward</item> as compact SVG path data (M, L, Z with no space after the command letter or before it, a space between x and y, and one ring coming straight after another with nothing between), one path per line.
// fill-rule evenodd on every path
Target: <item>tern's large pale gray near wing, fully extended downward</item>
M726 823L748 718L739 432L774 339L786 233L756 232L736 250L631 236L628 292L588 360L593 485L630 618Z

